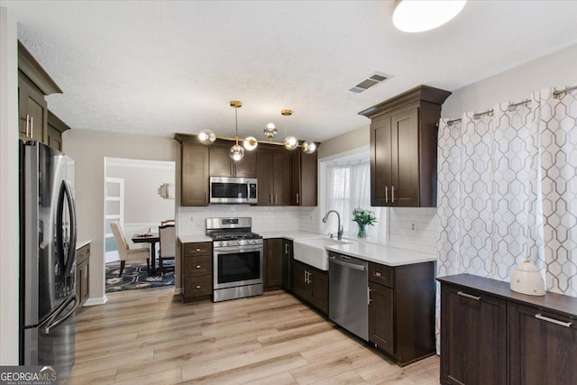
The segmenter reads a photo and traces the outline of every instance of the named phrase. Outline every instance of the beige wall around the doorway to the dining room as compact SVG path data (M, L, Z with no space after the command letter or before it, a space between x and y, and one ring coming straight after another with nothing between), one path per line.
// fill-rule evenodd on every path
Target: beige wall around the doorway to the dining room
M72 128L63 134L66 152L76 160L78 241L92 239L90 298L87 305L104 303L104 180L105 157L141 160L178 159L179 143L163 137L103 133ZM177 260L176 275L180 265Z

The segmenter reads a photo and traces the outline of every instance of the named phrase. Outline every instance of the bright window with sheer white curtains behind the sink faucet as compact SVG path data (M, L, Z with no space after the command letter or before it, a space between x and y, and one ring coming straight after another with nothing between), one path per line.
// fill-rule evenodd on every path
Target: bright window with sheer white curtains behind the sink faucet
M353 222L353 209L370 209L378 218L377 223L368 226L369 240L384 241L386 229L386 210L371 207L371 165L368 154L362 160L335 160L326 165L325 172L325 209L336 210L341 215L341 224L345 236L356 238L358 226ZM324 215L324 213L322 213ZM336 215L329 215L325 224L325 233L336 233Z

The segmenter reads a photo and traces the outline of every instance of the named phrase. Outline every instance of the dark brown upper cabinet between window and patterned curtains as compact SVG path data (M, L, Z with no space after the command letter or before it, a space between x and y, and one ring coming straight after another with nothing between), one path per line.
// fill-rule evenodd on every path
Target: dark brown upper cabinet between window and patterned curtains
M436 206L437 127L450 95L419 86L359 113L371 119L371 206Z

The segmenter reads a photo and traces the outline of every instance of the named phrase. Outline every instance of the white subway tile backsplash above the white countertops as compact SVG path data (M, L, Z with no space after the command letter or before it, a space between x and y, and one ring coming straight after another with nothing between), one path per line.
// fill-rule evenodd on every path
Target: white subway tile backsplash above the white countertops
M436 208L394 207L389 210L386 244L417 252L436 253ZM251 216L255 233L320 232L318 207L207 206L178 207L179 234L205 234L207 217Z

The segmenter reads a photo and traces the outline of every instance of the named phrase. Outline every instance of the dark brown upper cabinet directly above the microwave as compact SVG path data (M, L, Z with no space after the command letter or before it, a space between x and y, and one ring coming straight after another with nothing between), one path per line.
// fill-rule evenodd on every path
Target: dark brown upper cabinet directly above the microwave
M234 142L217 141L209 147L210 176L256 178L256 152L244 151L242 160L234 161L229 150Z

